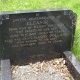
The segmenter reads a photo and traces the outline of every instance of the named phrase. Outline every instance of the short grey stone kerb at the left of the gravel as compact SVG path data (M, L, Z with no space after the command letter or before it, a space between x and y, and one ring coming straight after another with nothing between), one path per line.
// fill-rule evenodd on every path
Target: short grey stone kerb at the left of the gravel
M10 60L1 60L1 80L12 80Z

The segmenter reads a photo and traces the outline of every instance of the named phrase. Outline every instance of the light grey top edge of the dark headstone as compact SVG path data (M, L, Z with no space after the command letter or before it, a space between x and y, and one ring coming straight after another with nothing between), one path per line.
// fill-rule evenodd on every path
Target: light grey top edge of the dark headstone
M64 11L64 10L70 10L70 9L68 9L68 8L45 8L45 9L31 9L31 10L13 10L13 11L2 11L2 12L0 12L0 15L47 12L47 11Z

